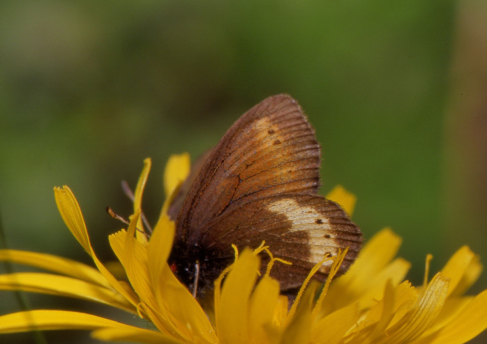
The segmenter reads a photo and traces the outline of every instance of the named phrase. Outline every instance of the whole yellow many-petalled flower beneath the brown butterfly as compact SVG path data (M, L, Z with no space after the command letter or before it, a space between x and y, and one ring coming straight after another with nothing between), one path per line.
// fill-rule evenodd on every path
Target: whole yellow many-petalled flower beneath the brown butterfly
M343 252L324 287L307 280L291 308L278 281L268 273L258 276L260 255L272 258L271 248L243 250L215 281L213 308L203 309L167 265L174 238L167 207L188 174L188 161L188 156L177 156L167 165L167 201L150 240L136 230L142 227L142 193L151 165L149 159L144 162L130 225L109 237L128 283L118 281L96 257L79 204L67 186L54 188L59 211L96 269L43 253L0 250L0 260L51 272L0 275L1 290L100 302L149 320L153 329L88 313L34 310L0 316L0 338L1 333L33 329L86 329L103 341L140 343L445 344L465 343L486 329L487 290L476 297L464 296L481 272L479 257L466 246L460 248L442 271L414 287L403 281L410 264L395 258L400 238L389 229L368 241L347 274L334 278ZM328 197L352 213L355 198L343 188Z

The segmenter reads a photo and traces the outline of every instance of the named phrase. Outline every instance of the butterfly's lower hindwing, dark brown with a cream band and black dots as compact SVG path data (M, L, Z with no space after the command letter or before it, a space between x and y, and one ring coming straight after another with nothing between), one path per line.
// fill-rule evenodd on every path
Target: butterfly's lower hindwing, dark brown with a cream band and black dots
M281 290L299 287L310 269L324 255L336 257L338 250L348 247L340 266L342 273L355 260L361 246L361 232L335 202L318 195L276 195L250 200L239 207L232 207L210 223L200 237L200 244L207 250L209 274L211 267L218 267L220 260L232 262L232 244L239 250L257 248L265 240L274 256L292 265L276 262L271 276L278 279ZM265 254L262 269L265 271L269 257ZM325 262L315 277L320 281L328 275L332 261ZM211 276L210 278L213 278Z

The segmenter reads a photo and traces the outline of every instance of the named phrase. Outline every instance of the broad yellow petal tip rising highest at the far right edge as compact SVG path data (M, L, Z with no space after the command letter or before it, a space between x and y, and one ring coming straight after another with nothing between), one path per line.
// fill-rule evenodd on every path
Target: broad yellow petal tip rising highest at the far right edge
M449 259L442 274L451 278L449 295L461 295L479 278L482 271L479 256L463 246Z

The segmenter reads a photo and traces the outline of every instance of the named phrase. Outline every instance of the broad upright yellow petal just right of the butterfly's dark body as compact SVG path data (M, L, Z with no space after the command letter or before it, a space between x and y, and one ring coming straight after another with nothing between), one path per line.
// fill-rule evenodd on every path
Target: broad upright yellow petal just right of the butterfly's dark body
M216 304L216 331L220 343L248 343L248 299L253 290L260 259L243 250L225 278Z

